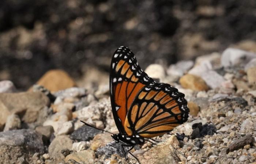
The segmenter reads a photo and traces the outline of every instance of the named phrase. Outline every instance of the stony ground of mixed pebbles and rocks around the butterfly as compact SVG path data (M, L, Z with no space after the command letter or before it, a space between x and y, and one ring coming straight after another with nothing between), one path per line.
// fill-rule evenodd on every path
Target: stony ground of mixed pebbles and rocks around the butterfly
M146 72L185 93L190 114L187 122L154 138L161 142L132 149L142 164L256 161L255 53L227 48L168 67L153 64ZM11 81L0 82L1 163L137 162L130 155L125 158L110 134L80 122L118 133L109 84L78 84L63 70L48 71L25 92Z

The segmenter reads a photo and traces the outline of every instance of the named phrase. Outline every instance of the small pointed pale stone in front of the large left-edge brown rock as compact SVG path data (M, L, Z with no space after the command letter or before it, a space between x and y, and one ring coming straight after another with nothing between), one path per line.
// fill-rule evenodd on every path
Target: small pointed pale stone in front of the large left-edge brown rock
M7 120L5 122L4 131L7 130L14 130L20 128L20 118L16 114L11 114L7 117Z

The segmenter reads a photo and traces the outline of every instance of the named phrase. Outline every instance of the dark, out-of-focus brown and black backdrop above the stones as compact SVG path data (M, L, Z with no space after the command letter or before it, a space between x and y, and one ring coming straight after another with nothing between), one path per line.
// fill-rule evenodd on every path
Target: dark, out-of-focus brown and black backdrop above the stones
M145 69L222 52L256 51L255 0L1 0L0 81L26 90L50 69L78 85L108 81L113 52Z

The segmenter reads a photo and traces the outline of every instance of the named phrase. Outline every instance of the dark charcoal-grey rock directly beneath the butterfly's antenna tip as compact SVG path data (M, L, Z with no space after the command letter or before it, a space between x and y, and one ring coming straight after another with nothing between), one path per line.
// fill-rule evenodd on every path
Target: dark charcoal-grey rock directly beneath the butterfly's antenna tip
M71 135L71 139L73 140L78 140L78 141L89 141L91 139L93 139L93 137L98 134L101 133L101 130L95 129L95 128L91 128L89 126L82 126L81 128L78 128L77 130L75 130Z

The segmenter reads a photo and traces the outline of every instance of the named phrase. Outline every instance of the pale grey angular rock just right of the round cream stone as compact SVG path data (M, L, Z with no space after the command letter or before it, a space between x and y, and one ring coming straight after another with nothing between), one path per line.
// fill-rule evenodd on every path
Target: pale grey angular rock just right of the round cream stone
M170 65L167 70L167 74L181 77L182 75L184 75L186 71L191 69L193 65L194 65L194 62L192 60L188 60L188 61L182 60L174 65Z

